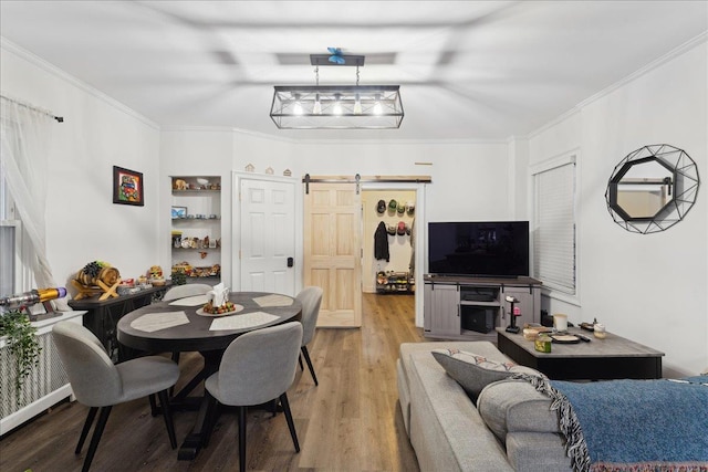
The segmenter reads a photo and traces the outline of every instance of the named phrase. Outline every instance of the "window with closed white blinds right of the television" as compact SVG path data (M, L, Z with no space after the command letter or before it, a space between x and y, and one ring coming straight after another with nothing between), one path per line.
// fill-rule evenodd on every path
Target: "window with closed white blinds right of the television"
M575 155L532 170L533 276L569 295L576 291Z

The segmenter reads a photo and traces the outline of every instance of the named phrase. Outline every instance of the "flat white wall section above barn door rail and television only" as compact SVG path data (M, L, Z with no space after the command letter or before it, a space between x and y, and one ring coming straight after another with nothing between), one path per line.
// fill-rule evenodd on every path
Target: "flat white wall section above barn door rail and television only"
M502 141L312 143L298 148L302 174L429 175L428 221L510 217L508 146Z

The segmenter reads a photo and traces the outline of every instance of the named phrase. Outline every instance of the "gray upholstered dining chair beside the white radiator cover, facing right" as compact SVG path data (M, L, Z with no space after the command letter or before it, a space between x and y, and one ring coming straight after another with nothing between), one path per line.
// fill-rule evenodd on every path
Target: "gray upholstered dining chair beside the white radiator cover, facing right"
M88 430L101 409L84 459L84 472L91 468L112 407L137 398L150 396L150 406L154 407L153 396L158 395L169 443L173 449L177 447L167 396L168 389L179 378L177 364L165 357L148 356L114 365L98 338L73 322L56 323L52 328L52 338L76 400L90 407L75 454L81 453Z

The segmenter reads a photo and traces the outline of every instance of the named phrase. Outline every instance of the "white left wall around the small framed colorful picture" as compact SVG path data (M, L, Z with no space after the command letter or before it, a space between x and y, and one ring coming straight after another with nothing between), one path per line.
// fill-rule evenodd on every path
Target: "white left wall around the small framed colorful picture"
M2 95L64 117L54 127L46 201L46 249L54 277L70 280L102 260L137 277L157 264L159 132L148 119L2 41ZM143 172L145 206L113 203L113 166Z

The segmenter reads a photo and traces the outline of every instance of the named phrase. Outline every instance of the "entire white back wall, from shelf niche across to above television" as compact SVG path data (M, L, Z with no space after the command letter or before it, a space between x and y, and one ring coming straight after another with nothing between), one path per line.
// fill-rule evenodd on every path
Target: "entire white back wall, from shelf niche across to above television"
M168 129L160 137L160 175L165 214L169 211L169 179L175 175L221 175L243 171L249 164L257 174L285 169L301 179L312 176L409 176L429 175L426 192L428 221L489 220L511 218L509 157L499 143L372 143L292 141L230 129ZM426 162L419 165L416 162ZM429 165L428 165L429 164ZM222 185L222 213L232 208L229 186ZM302 202L302 192L298 196ZM164 221L163 233L169 233ZM222 243L230 220L222 221ZM299 223L301 225L301 222ZM425 248L425 241L419 242ZM222 247L222 274L233 262ZM169 261L169 250L160 252ZM300 282L300 281L299 281ZM296 283L300 286L300 283ZM230 281L226 281L230 283Z

